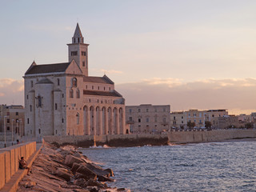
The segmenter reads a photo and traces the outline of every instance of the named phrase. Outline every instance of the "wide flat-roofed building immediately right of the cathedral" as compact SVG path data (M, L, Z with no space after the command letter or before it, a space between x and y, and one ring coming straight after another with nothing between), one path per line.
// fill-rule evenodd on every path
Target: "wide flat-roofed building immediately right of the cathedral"
M126 106L126 123L132 133L154 133L170 129L170 105Z

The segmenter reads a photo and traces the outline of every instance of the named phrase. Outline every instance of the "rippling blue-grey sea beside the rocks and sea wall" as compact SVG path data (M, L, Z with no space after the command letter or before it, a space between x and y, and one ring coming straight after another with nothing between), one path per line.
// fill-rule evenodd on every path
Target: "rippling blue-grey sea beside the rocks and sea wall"
M256 191L256 140L80 149L130 191Z

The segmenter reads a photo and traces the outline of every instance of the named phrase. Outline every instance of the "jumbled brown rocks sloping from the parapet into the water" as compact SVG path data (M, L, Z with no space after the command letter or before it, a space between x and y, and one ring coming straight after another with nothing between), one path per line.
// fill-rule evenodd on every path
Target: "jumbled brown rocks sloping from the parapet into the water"
M65 148L45 142L31 166L32 173L22 178L17 191L130 191L110 188L107 182L114 182L111 169L103 170L80 152Z

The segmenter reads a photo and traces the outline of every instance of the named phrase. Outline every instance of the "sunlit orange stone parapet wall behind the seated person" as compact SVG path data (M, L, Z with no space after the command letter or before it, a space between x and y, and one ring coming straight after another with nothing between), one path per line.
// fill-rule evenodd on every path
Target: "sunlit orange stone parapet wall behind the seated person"
M29 159L36 151L36 142L24 142L19 145L0 149L0 190L18 171L18 159Z

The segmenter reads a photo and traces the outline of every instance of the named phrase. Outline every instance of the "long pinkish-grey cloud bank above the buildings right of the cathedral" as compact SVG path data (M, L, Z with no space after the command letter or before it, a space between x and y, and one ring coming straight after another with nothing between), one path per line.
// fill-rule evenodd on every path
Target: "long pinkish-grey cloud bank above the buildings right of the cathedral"
M126 105L170 104L173 111L228 109L235 114L256 111L256 78L210 78L194 82L152 78L119 84L116 90L126 98Z

